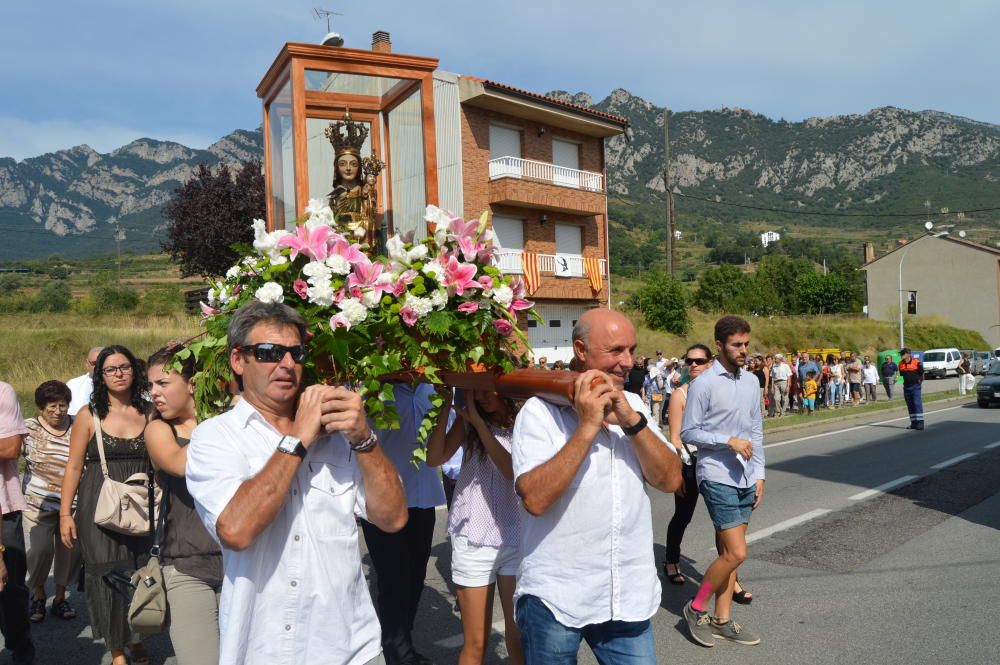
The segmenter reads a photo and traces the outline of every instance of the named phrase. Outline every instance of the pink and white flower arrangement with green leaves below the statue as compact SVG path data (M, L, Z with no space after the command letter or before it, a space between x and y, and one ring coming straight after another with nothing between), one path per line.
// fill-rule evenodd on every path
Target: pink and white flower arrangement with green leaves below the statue
M526 364L517 352L527 349L517 313L536 315L521 279L494 265L486 214L464 220L427 206L426 220L429 237L390 237L382 256L354 242L319 200L309 202L294 232L268 232L254 220L253 247L239 248L240 261L209 289L205 333L182 352L197 360L199 416L229 403L226 329L233 312L254 298L284 302L305 317L306 380L359 387L376 427L398 421L386 404L393 399L387 379L441 384L447 372ZM421 425L422 440L432 416Z

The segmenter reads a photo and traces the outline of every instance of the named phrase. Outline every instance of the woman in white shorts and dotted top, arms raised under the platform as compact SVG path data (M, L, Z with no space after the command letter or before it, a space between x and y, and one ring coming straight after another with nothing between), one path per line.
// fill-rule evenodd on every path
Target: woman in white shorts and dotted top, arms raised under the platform
M427 442L427 464L440 466L459 446L462 470L448 513L451 575L462 613L459 665L481 665L493 617L493 588L500 589L510 662L522 665L521 633L514 623L515 576L521 564L520 504L510 458L514 403L492 391L466 391L449 428L451 394Z

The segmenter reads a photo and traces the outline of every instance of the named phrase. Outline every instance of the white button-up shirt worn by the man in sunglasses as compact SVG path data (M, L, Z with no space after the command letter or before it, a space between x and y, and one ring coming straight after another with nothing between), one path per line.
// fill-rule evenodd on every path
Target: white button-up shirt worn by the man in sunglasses
M280 440L245 399L195 429L187 486L213 537L219 515ZM347 442L317 439L274 522L243 551L222 547L220 665L354 665L379 655L356 512L364 516L364 488Z

